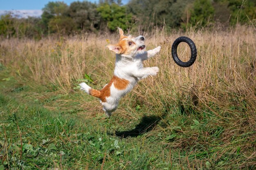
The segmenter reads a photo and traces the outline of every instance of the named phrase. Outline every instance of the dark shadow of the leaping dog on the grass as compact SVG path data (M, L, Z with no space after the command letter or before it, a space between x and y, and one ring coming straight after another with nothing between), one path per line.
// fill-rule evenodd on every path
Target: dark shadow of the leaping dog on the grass
M139 122L139 124L136 125L136 127L132 130L126 130L126 131L116 131L115 133L108 133L109 135L114 135L121 138L127 138L127 137L137 137L139 135L142 135L146 132L149 132L152 130L160 120L164 118L166 114L161 116L156 115L150 115L146 116L144 115Z

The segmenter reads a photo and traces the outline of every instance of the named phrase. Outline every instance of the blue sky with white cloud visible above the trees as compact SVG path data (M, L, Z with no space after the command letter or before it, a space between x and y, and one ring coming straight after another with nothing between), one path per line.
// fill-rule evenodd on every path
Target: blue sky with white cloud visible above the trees
M77 0L0 0L0 15L6 11L13 11L21 17L35 16L39 17L42 14L42 9L50 1L63 1L66 4ZM82 0L79 0L82 1ZM98 0L87 0L90 2L98 2ZM122 0L124 4L128 0Z

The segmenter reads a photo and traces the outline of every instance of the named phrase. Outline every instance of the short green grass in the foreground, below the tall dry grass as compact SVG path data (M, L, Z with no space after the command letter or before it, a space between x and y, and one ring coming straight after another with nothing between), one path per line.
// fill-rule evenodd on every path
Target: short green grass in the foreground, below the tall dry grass
M81 93L58 94L55 86L35 88L7 69L0 79L0 170L256 168L255 130L227 137L227 129L237 128L230 127L230 119L209 114L211 110L137 105L127 108L136 119L115 114L106 119L101 112L84 118L87 111L78 107Z

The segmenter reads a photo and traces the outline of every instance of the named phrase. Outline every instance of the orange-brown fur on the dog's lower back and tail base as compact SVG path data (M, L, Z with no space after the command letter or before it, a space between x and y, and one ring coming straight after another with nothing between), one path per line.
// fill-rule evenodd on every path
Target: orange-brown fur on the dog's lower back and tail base
M99 99L101 99L101 102L106 102L106 98L110 96L110 87L113 83L115 88L117 88L118 90L124 90L128 86L129 81L126 79L120 79L119 77L114 76L110 80L110 82L105 87L103 87L101 91L91 89L90 95L94 97L98 97Z

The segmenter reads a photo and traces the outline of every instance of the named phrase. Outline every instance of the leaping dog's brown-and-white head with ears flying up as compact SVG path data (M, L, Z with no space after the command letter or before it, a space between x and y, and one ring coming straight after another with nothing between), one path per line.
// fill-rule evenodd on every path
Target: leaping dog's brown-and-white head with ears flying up
M114 51L117 54L134 55L139 51L144 51L144 37L139 35L137 37L132 37L131 35L124 35L124 31L118 28L120 39L117 44L107 45L108 49Z

